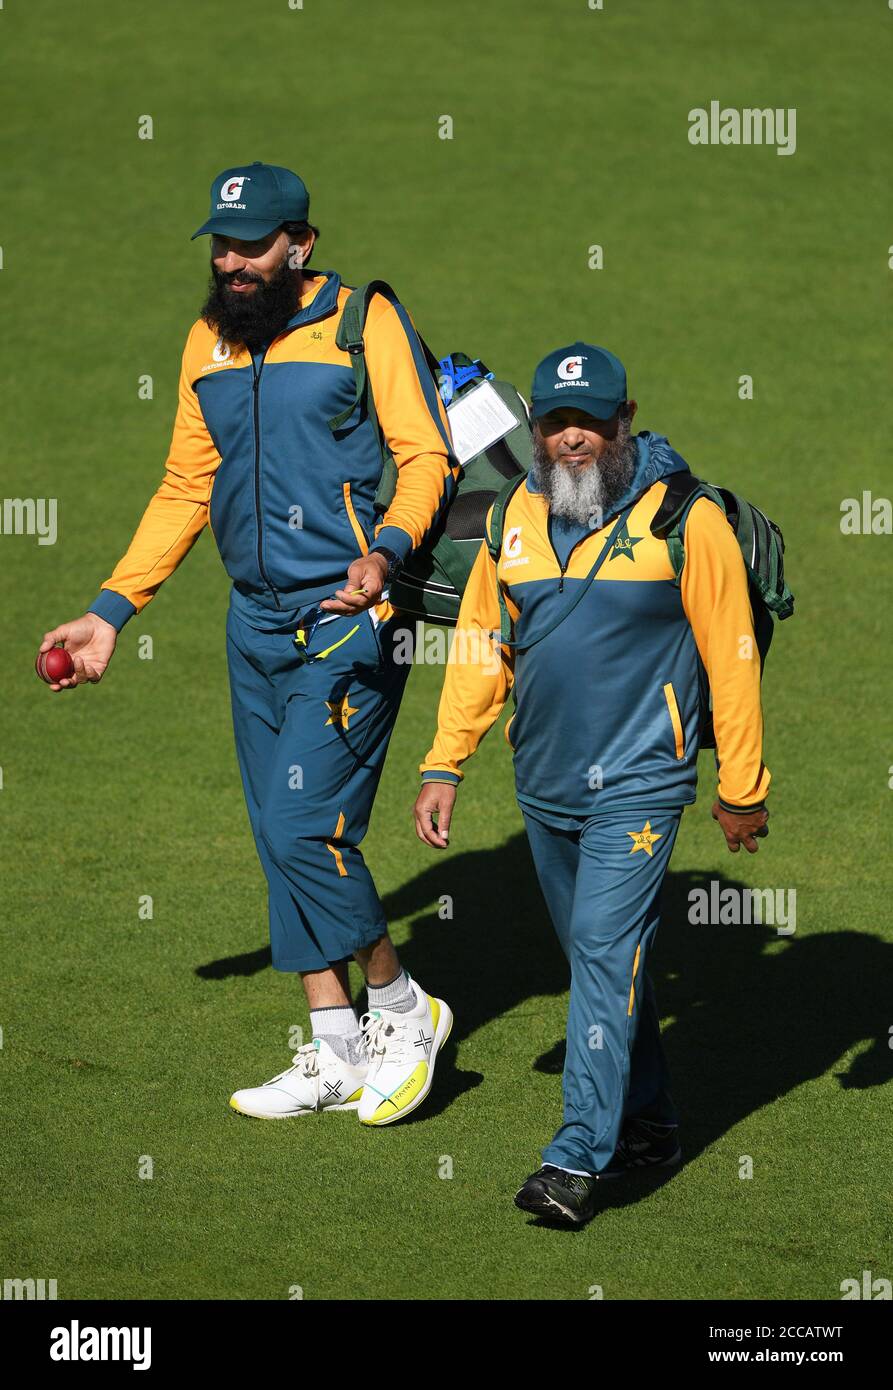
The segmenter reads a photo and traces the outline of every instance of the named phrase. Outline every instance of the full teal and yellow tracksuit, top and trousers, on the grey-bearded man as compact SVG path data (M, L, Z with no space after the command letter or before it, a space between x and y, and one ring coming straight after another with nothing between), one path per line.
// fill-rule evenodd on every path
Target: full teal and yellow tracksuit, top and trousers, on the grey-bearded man
M556 523L533 477L515 492L498 564L483 545L472 571L421 764L423 780L458 783L513 692L505 734L517 798L572 967L565 1120L544 1159L581 1172L609 1162L625 1118L676 1122L645 959L682 808L695 796L698 653L712 689L721 802L758 808L769 785L737 541L709 499L694 502L676 582L651 521L662 480L687 464L650 432L637 436L637 456L627 495L598 530ZM630 503L581 602L524 651L573 602ZM499 634L497 582L517 649L502 645L494 660L485 634Z

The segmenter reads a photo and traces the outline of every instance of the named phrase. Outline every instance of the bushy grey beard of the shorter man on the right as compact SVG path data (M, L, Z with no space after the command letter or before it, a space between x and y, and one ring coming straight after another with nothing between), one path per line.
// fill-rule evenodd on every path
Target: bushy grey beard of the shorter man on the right
M638 453L629 420L620 418L616 436L586 468L549 459L538 430L534 430L533 457L533 478L552 516L600 527L633 481Z

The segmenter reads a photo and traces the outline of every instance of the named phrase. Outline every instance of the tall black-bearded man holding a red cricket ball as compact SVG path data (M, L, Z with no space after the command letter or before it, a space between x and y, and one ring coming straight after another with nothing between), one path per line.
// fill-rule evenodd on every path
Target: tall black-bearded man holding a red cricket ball
M211 285L164 480L99 598L40 651L63 642L74 659L54 691L99 681L118 631L210 525L232 580L232 719L273 965L300 974L313 1031L289 1068L230 1104L262 1119L346 1109L378 1126L424 1101L452 1023L401 969L359 845L410 669L387 585L437 527L458 463L412 320L381 282L362 341L339 346L351 291L309 268L307 215L291 170L255 163L211 183L195 232L211 238ZM380 517L385 443L398 482ZM362 1020L351 958L367 983Z

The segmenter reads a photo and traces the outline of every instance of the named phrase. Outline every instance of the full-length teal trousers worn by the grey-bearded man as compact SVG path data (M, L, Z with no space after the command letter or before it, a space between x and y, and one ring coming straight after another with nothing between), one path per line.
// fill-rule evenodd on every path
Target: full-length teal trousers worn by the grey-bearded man
M680 810L562 826L522 805L537 877L570 965L565 1115L547 1163L598 1173L625 1119L676 1125L648 952Z

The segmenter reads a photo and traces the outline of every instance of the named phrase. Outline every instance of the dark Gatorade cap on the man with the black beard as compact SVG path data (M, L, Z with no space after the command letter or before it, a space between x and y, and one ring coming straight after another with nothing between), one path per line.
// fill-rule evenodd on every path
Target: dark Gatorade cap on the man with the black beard
M306 222L309 213L310 195L303 179L291 170L256 160L217 175L209 218L192 234L192 240L218 232L256 242L282 222Z

